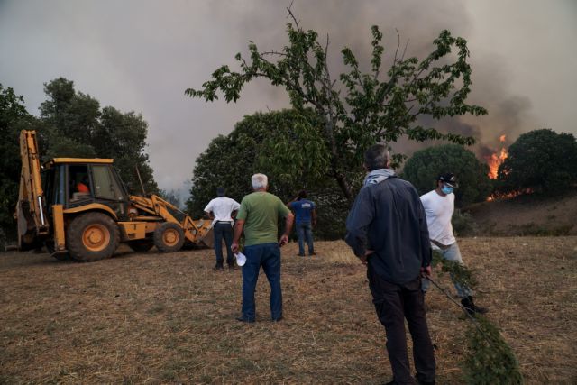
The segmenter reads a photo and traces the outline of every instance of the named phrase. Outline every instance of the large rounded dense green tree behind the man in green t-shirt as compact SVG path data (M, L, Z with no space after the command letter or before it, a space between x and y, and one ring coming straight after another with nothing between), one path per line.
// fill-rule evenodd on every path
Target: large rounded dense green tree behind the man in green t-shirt
M270 191L282 198L291 197L295 188L307 188L311 180L322 178L322 174L305 172L324 169L323 164L314 161L322 163L326 157L322 142L306 140L307 133L303 132L316 133L309 128L315 115L310 110L304 113L283 110L247 115L232 133L217 136L197 158L188 210L193 215L202 214L219 186L226 188L229 197L241 199L251 192L251 176L257 172L267 174ZM279 140L284 137L291 140ZM315 156L307 157L307 153Z

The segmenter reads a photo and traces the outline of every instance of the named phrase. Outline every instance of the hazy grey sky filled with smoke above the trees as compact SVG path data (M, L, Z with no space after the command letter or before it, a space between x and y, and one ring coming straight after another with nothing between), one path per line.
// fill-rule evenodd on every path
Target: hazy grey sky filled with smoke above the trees
M261 50L286 42L289 1L0 0L0 83L23 95L34 115L43 83L69 78L102 106L142 113L160 188L183 190L197 155L219 133L255 111L288 106L282 90L259 81L240 101L206 104L184 96L247 41ZM577 1L295 0L306 29L331 39L331 62L347 45L360 60L370 27L380 26L389 53L397 35L408 55L423 56L443 29L469 41L471 101L490 115L446 124L467 126L497 146L548 127L577 134ZM366 63L366 61L365 61ZM334 77L336 70L334 70Z

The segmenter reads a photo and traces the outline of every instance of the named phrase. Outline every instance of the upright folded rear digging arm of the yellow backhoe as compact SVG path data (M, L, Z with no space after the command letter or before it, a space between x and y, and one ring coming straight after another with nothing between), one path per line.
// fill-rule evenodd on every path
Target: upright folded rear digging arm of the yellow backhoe
M35 131L23 130L20 133L20 157L22 170L15 214L18 222L18 248L30 250L36 247L50 230Z

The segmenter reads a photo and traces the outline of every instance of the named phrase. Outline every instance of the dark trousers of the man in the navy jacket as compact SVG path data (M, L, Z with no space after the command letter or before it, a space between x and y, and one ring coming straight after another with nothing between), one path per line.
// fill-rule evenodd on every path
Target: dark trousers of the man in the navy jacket
M383 280L371 269L367 270L369 287L377 316L387 333L387 352L393 371L393 380L398 384L414 384L408 363L405 318L413 339L413 360L417 370L417 380L435 380L435 355L426 325L424 295L421 280L397 285Z

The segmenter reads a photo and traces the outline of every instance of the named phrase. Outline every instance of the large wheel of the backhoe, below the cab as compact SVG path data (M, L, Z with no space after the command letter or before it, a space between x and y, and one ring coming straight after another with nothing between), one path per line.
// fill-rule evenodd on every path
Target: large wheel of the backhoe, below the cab
M68 227L66 243L70 256L79 262L112 257L120 243L120 231L114 220L102 213L79 215Z

